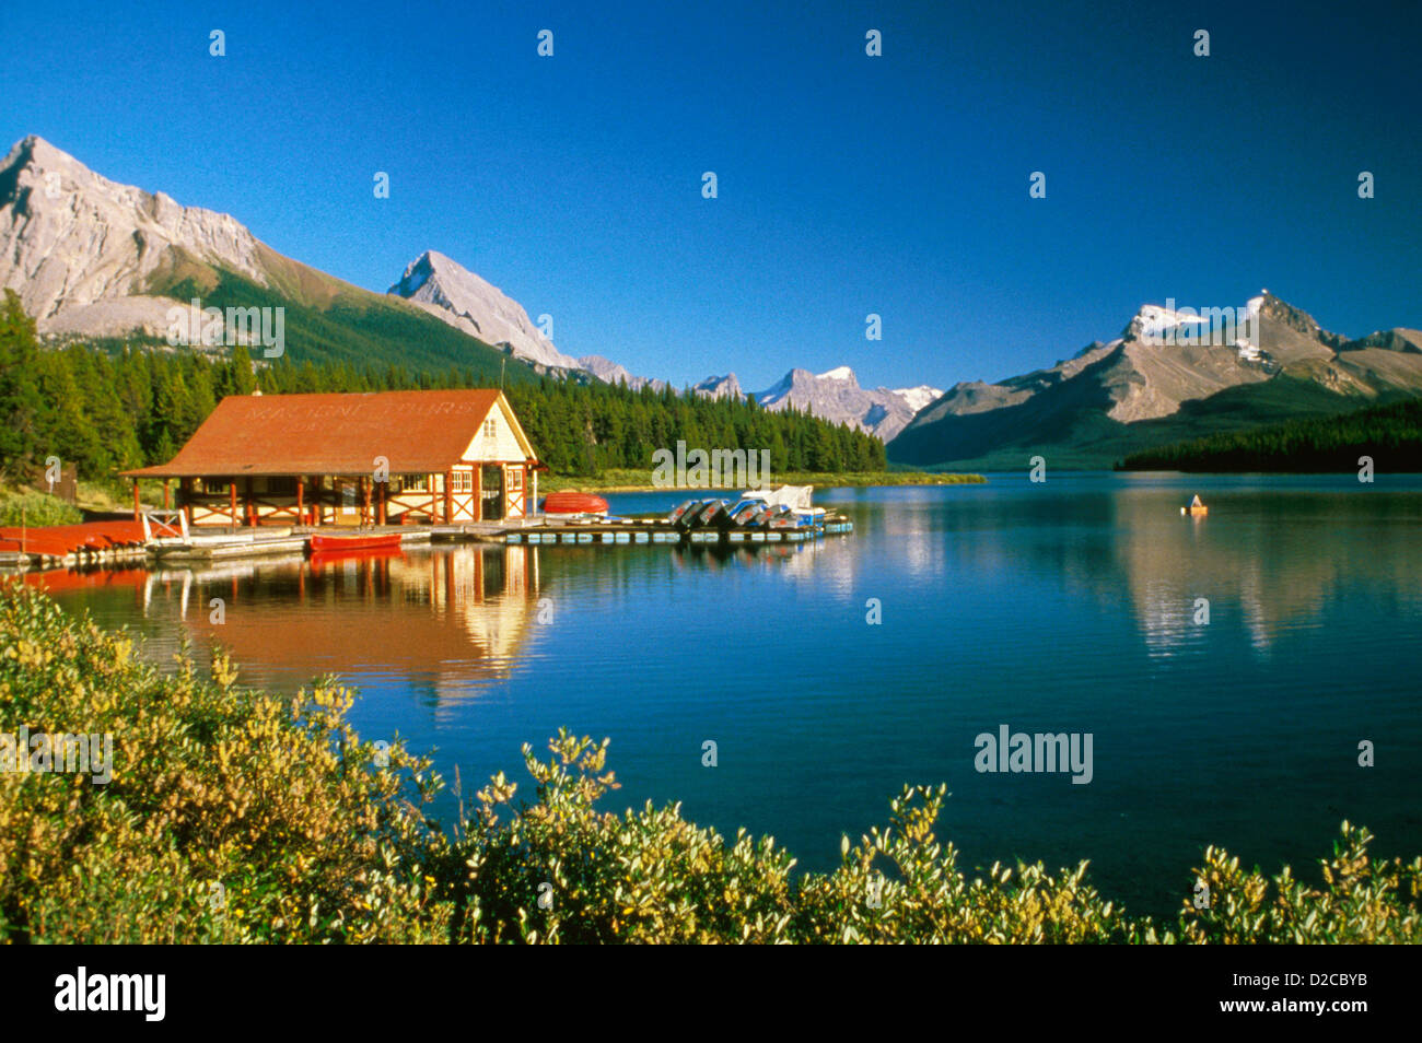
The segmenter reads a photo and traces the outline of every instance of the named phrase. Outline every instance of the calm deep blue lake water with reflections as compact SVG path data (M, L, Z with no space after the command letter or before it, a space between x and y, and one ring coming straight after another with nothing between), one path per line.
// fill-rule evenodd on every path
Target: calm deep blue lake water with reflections
M1194 492L1207 519L1179 514ZM499 769L526 779L520 743L542 749L559 725L611 736L616 807L681 800L811 868L884 823L904 783L939 782L939 836L967 867L1089 858L1142 912L1179 907L1209 843L1307 878L1342 818L1379 853L1422 853L1422 477L1001 475L816 502L856 531L757 553L233 564L58 597L164 656L218 637L249 683L340 672L361 689L363 736L434 750L466 793ZM1089 732L1092 782L978 773L974 739L1000 725Z

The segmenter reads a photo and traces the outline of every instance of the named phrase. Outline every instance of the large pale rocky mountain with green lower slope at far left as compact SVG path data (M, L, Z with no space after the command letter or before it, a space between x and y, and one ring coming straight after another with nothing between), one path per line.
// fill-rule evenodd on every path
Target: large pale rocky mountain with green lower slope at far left
M50 337L158 345L169 310L196 297L223 311L283 308L289 362L498 378L505 360L414 304L282 256L230 215L109 180L36 136L0 161L0 287ZM230 347L236 331L222 333ZM533 379L519 369L509 379Z

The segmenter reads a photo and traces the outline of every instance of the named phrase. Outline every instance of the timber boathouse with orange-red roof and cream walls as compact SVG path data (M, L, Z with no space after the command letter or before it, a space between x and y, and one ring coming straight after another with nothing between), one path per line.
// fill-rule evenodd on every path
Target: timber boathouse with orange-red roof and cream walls
M526 517L542 465L502 391L230 395L168 463L189 526Z

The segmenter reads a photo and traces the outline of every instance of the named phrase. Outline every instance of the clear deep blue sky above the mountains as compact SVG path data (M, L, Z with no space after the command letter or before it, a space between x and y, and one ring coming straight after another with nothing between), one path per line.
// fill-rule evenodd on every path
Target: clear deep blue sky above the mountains
M0 138L38 134L371 290L441 250L552 314L565 352L634 372L948 387L1049 365L1167 297L1267 286L1340 333L1422 327L1419 11L20 4Z

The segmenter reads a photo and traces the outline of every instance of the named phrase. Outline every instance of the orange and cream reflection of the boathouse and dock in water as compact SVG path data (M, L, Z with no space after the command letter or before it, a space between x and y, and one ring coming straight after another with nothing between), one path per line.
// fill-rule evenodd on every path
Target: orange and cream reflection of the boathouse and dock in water
M326 674L357 683L390 678L445 705L510 676L540 625L556 618L563 591L616 591L687 570L803 573L815 558L813 544L466 544L57 570L24 581L82 601L105 625L135 627L162 661L185 641L220 645L246 683L292 688Z

